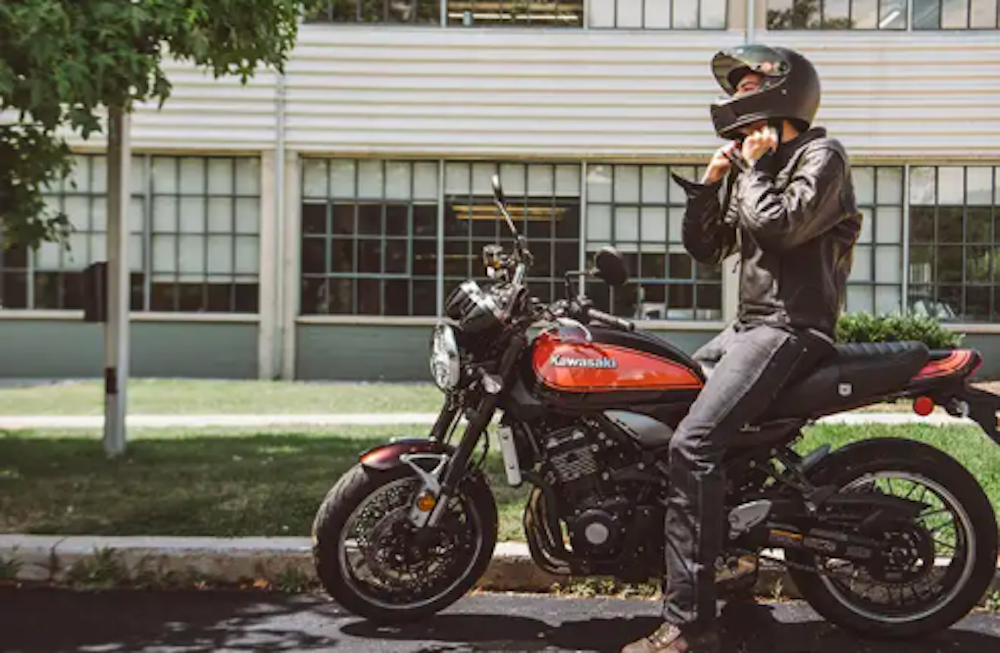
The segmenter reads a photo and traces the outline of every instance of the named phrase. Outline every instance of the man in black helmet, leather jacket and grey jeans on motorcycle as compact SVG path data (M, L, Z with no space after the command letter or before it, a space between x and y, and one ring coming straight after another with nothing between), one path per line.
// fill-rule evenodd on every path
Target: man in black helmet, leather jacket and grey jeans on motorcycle
M861 229L847 154L822 128L802 55L750 45L712 61L715 153L688 195L684 246L703 263L740 254L739 315L695 354L708 381L670 443L664 624L623 653L714 653L716 560L726 516L720 464L790 379L830 353ZM728 183L723 185L724 178Z

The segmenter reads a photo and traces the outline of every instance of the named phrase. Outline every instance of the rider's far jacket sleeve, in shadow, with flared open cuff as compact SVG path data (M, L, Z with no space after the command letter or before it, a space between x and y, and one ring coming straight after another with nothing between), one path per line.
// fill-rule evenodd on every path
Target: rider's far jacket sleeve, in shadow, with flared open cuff
M681 227L684 248L701 263L721 263L736 251L736 227L723 219L719 203L722 182L698 184L676 174L672 176L687 194L687 208Z

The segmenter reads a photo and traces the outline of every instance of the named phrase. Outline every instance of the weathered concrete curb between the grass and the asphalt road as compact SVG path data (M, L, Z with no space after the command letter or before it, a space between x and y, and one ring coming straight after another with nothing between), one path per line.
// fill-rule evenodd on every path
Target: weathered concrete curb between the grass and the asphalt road
M226 584L267 581L281 587L289 580L315 582L311 541L300 537L94 537L0 535L0 569L14 570L18 581L60 583L74 570L116 561L128 578L142 574L204 578ZM14 561L13 565L10 565ZM4 579L0 577L0 582ZM574 579L539 569L520 542L500 542L489 569L477 583L483 590L549 592ZM755 588L759 596L800 598L785 570L774 562L762 565ZM1000 569L992 591L1000 591Z

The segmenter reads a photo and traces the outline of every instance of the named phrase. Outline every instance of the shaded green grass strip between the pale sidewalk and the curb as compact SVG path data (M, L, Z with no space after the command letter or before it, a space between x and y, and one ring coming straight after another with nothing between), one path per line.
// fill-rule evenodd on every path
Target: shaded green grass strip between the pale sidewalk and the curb
M358 454L422 427L133 430L108 460L96 433L0 434L0 532L308 536L316 508ZM969 427L818 426L799 445L905 436L948 451L1000 509L1000 447ZM488 471L502 540L522 539L527 487L509 488L495 448Z

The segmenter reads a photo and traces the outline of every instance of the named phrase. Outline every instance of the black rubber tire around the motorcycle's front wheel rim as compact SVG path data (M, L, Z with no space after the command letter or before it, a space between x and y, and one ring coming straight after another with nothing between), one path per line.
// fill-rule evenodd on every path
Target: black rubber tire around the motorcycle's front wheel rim
M462 598L486 572L493 557L498 532L496 501L481 474L467 477L459 487L465 509L476 512L479 523L478 551L467 572L447 591L413 606L388 606L365 596L348 582L341 560L340 534L362 501L390 483L417 478L408 467L375 470L360 464L344 474L327 493L313 521L313 561L327 593L343 608L376 623L404 623L433 615Z

